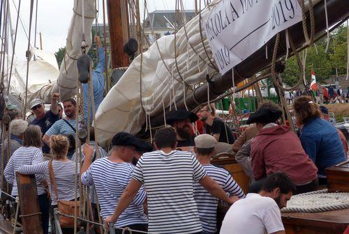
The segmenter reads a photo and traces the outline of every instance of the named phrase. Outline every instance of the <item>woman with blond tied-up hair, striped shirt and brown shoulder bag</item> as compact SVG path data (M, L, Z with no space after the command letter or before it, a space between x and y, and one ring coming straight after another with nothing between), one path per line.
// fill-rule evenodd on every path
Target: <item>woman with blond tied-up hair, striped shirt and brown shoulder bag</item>
M50 137L51 153L54 155L52 160L52 169L54 173L54 180L57 186L57 195L60 201L74 201L75 192L77 198L80 196L79 183L77 182L77 189L75 189L75 180L80 173L80 166L75 167L75 162L67 157L69 141L63 135L54 135ZM45 175L47 181L50 181L49 173L50 161L42 162L35 165L23 165L18 170L22 174L40 174ZM50 183L50 193L52 194L52 208L57 208L56 195L54 187ZM70 231L64 231L70 233Z

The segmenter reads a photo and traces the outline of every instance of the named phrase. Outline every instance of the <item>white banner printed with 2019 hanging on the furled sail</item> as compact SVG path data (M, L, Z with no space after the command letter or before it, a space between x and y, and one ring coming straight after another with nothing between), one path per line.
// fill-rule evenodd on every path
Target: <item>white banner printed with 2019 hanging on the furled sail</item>
M222 75L302 20L297 0L218 0L211 5L203 27Z

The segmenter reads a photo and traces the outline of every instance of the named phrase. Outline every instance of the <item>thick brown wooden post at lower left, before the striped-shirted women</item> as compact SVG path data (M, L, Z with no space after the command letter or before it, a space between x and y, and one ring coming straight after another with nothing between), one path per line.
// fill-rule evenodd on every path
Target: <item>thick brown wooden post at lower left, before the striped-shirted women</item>
M41 213L34 175L17 173L17 188L24 234L43 234Z

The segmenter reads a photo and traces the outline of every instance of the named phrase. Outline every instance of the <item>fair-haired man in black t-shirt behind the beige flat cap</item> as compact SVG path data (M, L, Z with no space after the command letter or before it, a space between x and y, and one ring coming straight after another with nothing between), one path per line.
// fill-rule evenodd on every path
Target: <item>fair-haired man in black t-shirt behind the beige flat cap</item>
M221 118L216 118L214 105L205 105L200 109L200 120L205 122L205 133L214 136L216 141L232 144L235 141L230 127Z

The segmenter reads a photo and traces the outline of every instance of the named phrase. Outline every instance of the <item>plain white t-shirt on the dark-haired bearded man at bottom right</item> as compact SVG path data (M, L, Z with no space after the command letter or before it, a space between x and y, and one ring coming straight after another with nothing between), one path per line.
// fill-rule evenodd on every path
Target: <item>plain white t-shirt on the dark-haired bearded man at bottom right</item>
M269 234L283 230L281 212L274 199L247 194L229 208L220 234Z

